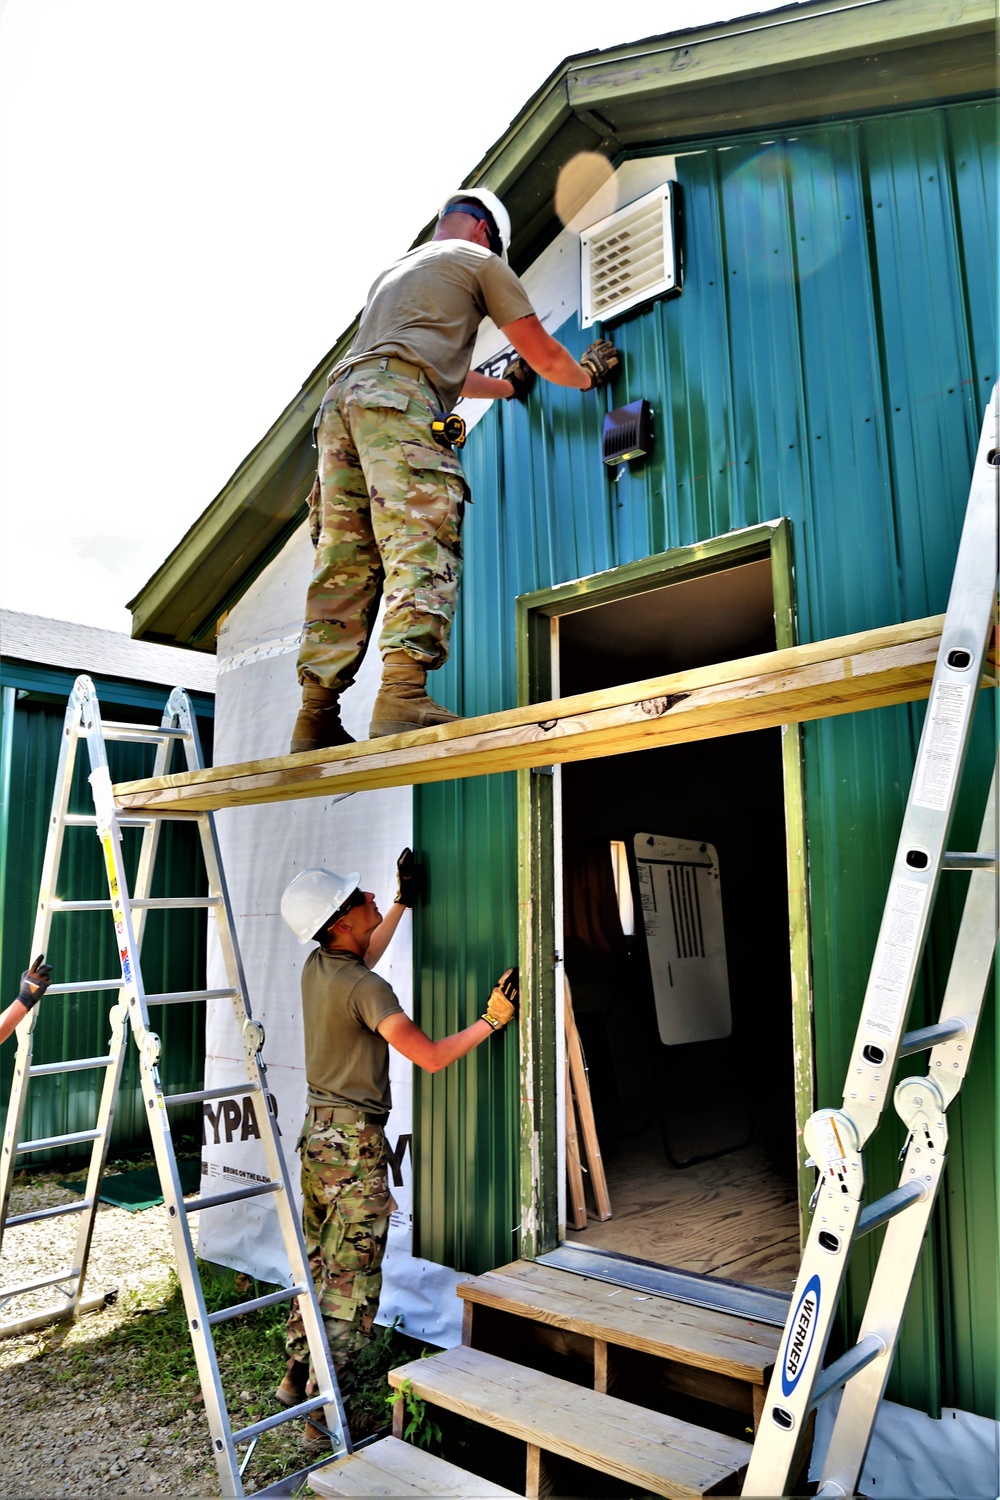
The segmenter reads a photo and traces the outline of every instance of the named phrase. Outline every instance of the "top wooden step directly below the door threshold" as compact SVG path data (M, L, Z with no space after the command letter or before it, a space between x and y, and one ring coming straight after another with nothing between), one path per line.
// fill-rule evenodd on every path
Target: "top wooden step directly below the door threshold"
M610 1390L627 1365L625 1352L637 1352L667 1362L675 1389L754 1416L781 1341L780 1328L528 1260L463 1281L457 1292L465 1302L463 1344L516 1352L496 1317L480 1314L477 1322L478 1310L490 1310L576 1336L576 1352L594 1360L597 1390ZM516 1328L528 1335L526 1323Z

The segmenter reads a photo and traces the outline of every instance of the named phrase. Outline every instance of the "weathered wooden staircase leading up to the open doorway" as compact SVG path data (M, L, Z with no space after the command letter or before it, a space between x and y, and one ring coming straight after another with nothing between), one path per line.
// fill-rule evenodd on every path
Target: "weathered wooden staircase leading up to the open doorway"
M519 1492L739 1494L781 1329L534 1262L457 1290L462 1344L388 1380L523 1444ZM402 1446L393 1410L393 1438L315 1472L316 1494L514 1492Z

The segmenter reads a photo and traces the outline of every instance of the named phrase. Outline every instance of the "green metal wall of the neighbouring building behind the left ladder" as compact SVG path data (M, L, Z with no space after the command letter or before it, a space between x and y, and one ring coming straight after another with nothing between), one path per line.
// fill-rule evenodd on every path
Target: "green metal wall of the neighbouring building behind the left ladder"
M25 669L10 672L6 664L3 680L24 680ZM42 686L43 668L27 674ZM64 674L52 674L60 684ZM105 718L156 723L168 698L168 688L145 688L139 684L99 684L100 710ZM0 933L0 1008L16 993L21 970L33 954L28 952L42 856L52 801L52 786L58 760L66 704L46 700L37 692L15 700L16 688L3 693L3 744L6 795L3 806L3 890ZM118 694L118 700L115 700ZM138 704L136 704L138 699ZM157 702L157 708L142 706ZM205 753L211 748L211 718L208 700L199 700L199 730L208 735ZM175 752L177 754L177 752ZM148 776L153 752L144 746L109 744L108 760L115 782ZM90 762L87 747L79 744L70 812L93 813L93 798L87 783ZM135 830L123 836L123 849L135 872L141 834ZM196 831L178 824L166 824L160 838L154 896L195 896L205 891L205 878L198 849ZM63 844L58 894L64 898L106 897L106 874L100 844L93 831L67 830ZM48 960L52 978L103 980L120 974L114 928L106 912L66 912L54 915ZM204 984L205 914L150 912L142 945L142 975L150 992L190 990ZM108 1008L114 994L49 996L40 1002L34 1029L33 1060L55 1062L63 1058L94 1058L108 1050ZM204 1078L204 1006L174 1005L156 1014L153 1023L163 1040L163 1080L169 1092L199 1088ZM6 1114L15 1058L13 1038L0 1050L0 1107ZM37 1078L28 1090L22 1138L91 1130L103 1074L93 1071ZM171 1118L175 1132L192 1131L199 1138L201 1108L178 1108ZM139 1089L135 1047L129 1042L121 1092L112 1126L112 1150L147 1149L148 1126ZM36 1152L19 1158L19 1166L42 1170L63 1162L78 1162L90 1155L88 1146L67 1148L61 1155Z

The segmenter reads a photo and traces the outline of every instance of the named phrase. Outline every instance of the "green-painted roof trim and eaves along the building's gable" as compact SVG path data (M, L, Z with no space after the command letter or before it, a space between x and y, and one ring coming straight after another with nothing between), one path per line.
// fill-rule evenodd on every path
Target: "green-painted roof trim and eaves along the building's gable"
M555 183L577 152L618 162L700 136L988 96L994 36L994 0L808 0L579 54L532 94L465 186L504 198L516 226L511 262L523 270L558 232ZM355 328L357 320L129 602L133 636L214 650L219 616L304 514L313 416Z

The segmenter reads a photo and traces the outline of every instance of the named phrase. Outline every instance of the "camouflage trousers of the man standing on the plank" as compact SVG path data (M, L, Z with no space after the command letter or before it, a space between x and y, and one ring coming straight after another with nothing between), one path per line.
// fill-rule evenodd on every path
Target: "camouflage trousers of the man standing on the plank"
M327 392L300 682L351 686L382 592L379 651L406 651L429 668L447 662L468 486L454 453L430 435L436 411L427 386L372 366Z

